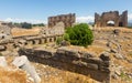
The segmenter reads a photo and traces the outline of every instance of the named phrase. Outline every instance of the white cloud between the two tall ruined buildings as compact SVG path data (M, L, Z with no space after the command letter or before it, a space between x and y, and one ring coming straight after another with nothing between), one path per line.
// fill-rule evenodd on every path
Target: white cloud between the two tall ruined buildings
M91 15L87 15L87 17L77 17L77 19L76 19L76 21L77 22L86 22L86 23L88 23L88 22L94 22L94 17L91 17Z

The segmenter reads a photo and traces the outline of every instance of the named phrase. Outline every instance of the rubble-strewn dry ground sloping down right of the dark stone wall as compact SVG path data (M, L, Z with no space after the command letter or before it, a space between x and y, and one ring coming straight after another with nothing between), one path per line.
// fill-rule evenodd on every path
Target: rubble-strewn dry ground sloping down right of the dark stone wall
M131 83L132 82L132 30L119 29L118 34L112 32L113 29L100 29L95 32L95 45L109 49L112 61L112 80L111 83ZM105 32L107 31L107 32ZM94 49L95 50L95 49Z

